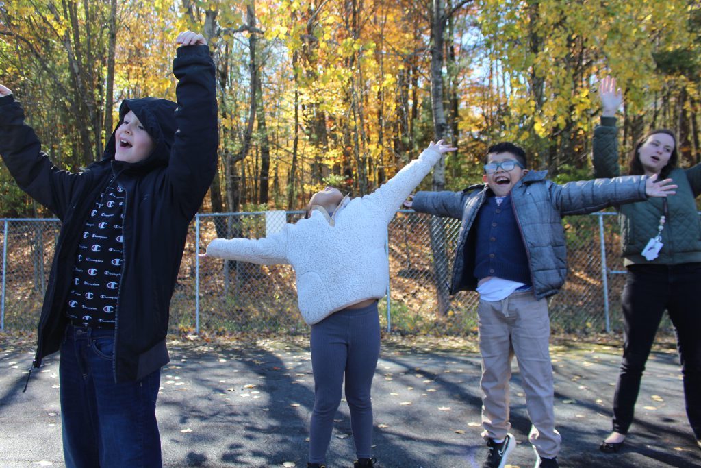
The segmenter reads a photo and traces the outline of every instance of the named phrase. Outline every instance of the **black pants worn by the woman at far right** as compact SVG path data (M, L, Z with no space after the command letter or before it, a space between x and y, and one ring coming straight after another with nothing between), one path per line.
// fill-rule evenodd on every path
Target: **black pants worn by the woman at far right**
M632 265L622 295L625 336L613 399L613 430L627 434L640 380L662 314L676 332L684 382L686 415L701 439L701 263Z

